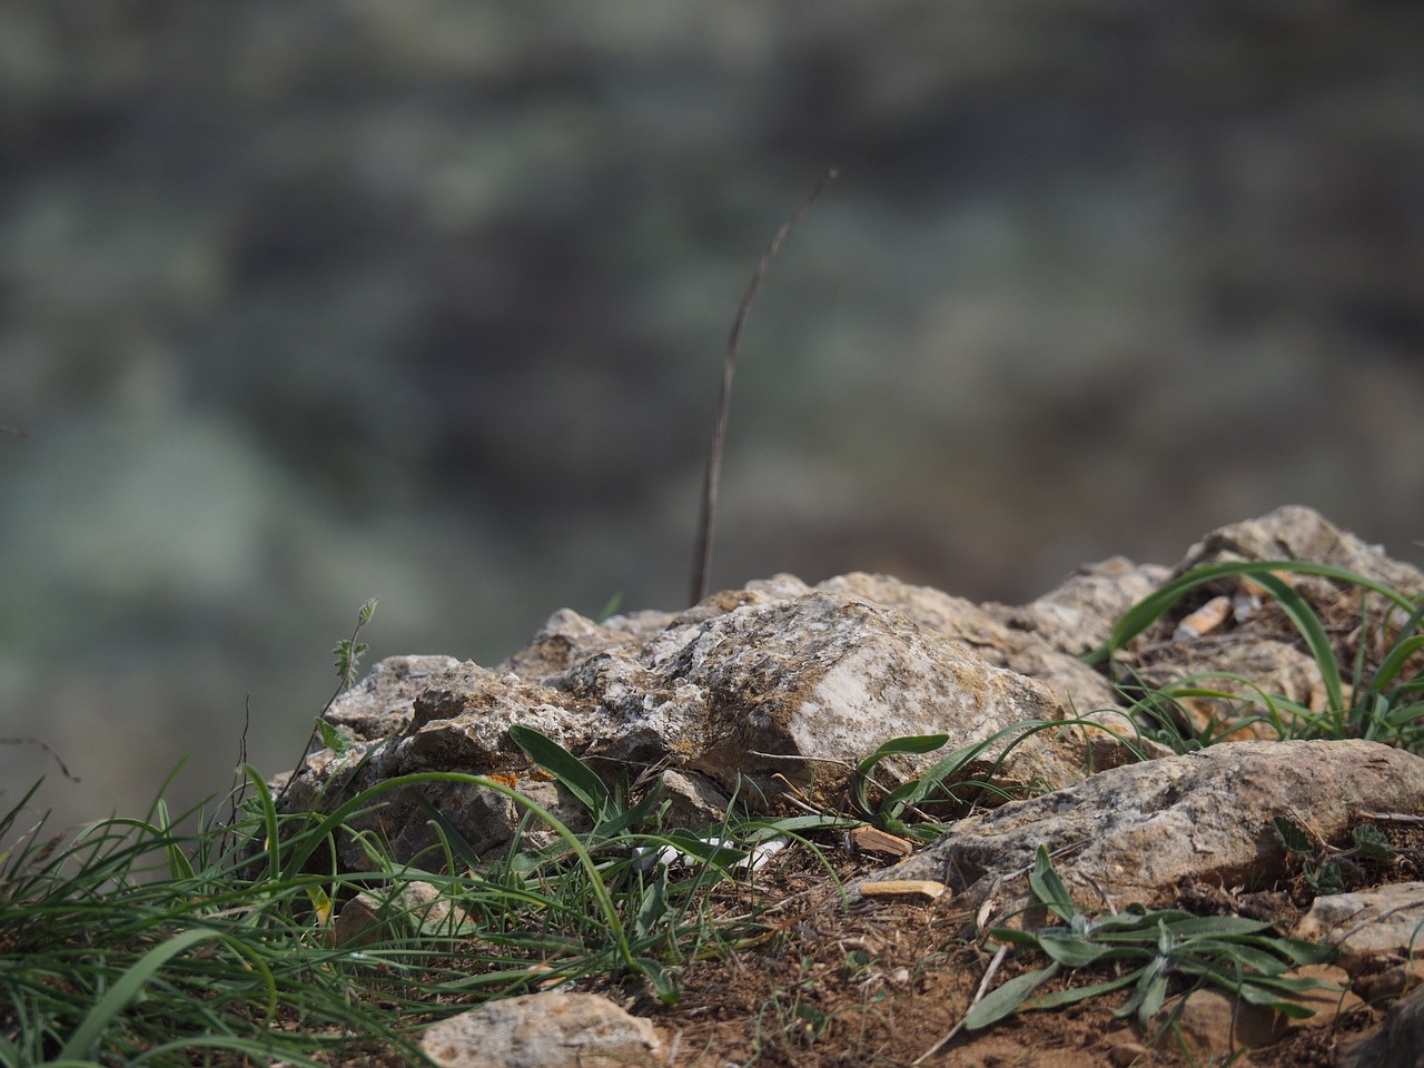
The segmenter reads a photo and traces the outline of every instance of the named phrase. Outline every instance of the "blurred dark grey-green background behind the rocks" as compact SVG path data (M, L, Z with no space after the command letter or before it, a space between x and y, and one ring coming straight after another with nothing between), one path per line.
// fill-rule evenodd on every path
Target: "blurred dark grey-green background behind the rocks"
M887 571L1424 538L1424 6L0 3L0 746L80 820L379 656Z

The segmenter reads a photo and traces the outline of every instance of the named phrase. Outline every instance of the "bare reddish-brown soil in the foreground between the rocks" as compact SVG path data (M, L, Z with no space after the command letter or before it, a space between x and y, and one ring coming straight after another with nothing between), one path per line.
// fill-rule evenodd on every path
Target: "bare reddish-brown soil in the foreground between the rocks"
M871 859L862 863L846 859L839 874L844 879L874 867ZM1397 863L1388 876L1414 879L1420 876L1417 867L1413 860ZM1358 880L1377 883L1381 874L1387 873L1361 871ZM631 1002L622 998L632 1011L656 1022L671 1051L668 1064L686 1068L1203 1064L1200 1055L1193 1059L1182 1047L1166 1012L1153 1021L1156 1030L1146 1032L1115 1018L1112 1010L1124 1002L1124 994L1015 1015L980 1032L960 1032L937 1054L926 1057L960 1022L990 964L993 951L983 947L983 940L973 938L973 916L944 899L934 904L897 901L847 909L830 896L833 889L823 869L809 863L775 874L772 889L786 900L779 910L785 923L779 938L692 967L684 975L684 997L675 1007L645 997ZM1294 879L1245 903L1240 899L1229 903L1219 889L1186 887L1176 904L1199 913L1226 911L1227 904L1239 910L1245 904L1262 913L1262 918L1270 914L1279 930L1287 930L1309 900L1309 891ZM1044 963L1032 954L1011 954L994 985ZM1059 977L1058 985L1085 985L1109 977L1105 970L1082 970ZM1337 1041L1377 1022L1381 1010L1334 1020L1331 1015L1323 1012L1283 1041L1242 1052L1232 1064L1330 1065ZM1230 1049L1229 1040L1220 1048Z

